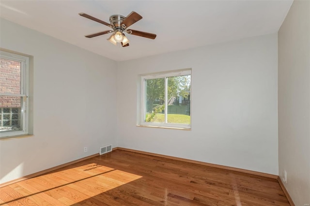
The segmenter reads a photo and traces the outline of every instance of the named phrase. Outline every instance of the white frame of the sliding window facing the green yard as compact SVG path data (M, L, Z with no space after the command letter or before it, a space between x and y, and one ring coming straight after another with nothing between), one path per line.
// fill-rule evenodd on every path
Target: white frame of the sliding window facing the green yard
M167 81L168 77L171 76L183 76L183 75L190 75L190 85L192 84L192 71L191 69L186 70L178 70L178 71L172 71L168 73L160 73L160 74L145 74L141 75L141 94L140 94L140 121L138 121L138 126L154 126L154 127L162 127L162 128L177 128L177 129L191 129L191 118L189 124L177 124L177 123L165 123L167 122L167 115L165 115L165 122L146 122L145 121L145 107L146 107L146 101L145 101L145 91L146 91L146 85L145 81L147 79L155 79L155 78L165 78L165 114L167 113L167 96L168 96L168 87L167 87ZM190 87L191 89L192 87ZM190 91L191 94L191 91ZM190 111L191 111L191 97L190 95ZM191 114L191 112L190 112Z

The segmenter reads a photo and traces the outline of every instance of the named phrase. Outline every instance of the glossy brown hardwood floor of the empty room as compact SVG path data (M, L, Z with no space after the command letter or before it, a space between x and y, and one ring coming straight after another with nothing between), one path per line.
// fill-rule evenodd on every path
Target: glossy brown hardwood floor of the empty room
M115 150L0 188L2 206L289 206L276 179Z

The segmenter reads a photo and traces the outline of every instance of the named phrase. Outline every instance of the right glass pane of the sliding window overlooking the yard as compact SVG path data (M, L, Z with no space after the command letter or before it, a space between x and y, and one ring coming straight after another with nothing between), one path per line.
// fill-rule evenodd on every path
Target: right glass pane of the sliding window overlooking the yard
M190 75L168 77L167 122L190 124Z

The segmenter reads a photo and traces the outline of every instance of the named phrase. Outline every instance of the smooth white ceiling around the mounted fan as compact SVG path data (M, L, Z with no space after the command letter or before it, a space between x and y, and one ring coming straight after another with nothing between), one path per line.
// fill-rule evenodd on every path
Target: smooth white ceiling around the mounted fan
M293 0L0 0L0 17L117 61L277 32ZM110 15L135 11L129 28L157 34L155 40L127 34L130 46L115 46L105 34Z

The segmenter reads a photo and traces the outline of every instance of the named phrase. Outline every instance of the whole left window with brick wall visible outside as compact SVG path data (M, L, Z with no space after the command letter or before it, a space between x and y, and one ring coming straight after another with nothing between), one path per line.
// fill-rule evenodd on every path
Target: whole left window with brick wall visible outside
M0 51L0 137L28 133L28 62Z

